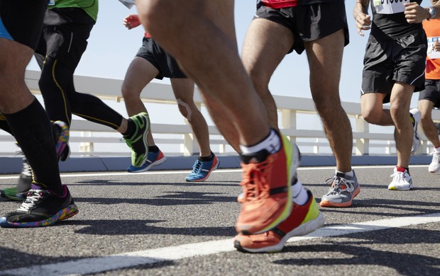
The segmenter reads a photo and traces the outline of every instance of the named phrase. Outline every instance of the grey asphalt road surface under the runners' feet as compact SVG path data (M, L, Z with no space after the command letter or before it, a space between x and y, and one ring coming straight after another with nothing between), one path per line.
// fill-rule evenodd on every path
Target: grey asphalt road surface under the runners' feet
M356 167L349 208L280 253L233 248L239 170L203 183L188 171L63 174L79 214L55 226L0 229L0 275L440 275L440 176L412 166L414 190L390 191L392 167ZM334 168L299 168L319 202ZM15 176L0 176L0 189ZM0 201L4 214L19 206Z

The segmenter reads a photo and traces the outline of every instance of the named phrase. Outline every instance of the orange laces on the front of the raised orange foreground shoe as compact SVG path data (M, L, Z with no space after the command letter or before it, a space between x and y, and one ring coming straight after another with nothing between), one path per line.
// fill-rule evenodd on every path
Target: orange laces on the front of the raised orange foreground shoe
M243 180L240 185L243 188L243 200L258 200L269 195L270 186L266 181L266 174L268 173L268 161L260 163L242 164Z

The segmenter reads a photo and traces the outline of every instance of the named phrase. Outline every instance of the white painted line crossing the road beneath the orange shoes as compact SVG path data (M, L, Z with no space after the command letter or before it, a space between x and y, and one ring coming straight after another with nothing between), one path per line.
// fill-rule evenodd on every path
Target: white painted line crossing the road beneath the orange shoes
M440 222L440 213L326 226L307 236L290 238L287 242L292 243L295 241L328 238L332 236L342 236L433 222ZM132 268L136 265L148 265L152 263L162 263L169 260L180 260L183 258L195 258L203 255L226 253L229 251L235 251L235 248L233 248L233 240L231 238L219 241L205 241L202 243L189 243L181 246L169 246L165 248L148 249L145 251L107 255L97 258L84 258L65 263L33 265L28 268L0 271L0 275L84 275L108 270Z

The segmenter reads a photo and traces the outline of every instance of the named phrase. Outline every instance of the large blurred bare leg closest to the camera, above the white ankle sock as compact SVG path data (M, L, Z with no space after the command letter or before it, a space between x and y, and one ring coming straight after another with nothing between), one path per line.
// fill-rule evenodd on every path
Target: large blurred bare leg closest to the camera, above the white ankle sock
M264 105L238 57L233 1L194 0L183 5L180 1L144 0L138 1L138 10L143 25L180 62L207 99L227 110L214 116L231 118L228 123L236 127L241 144L257 144L268 136ZM219 71L224 74L217 74Z

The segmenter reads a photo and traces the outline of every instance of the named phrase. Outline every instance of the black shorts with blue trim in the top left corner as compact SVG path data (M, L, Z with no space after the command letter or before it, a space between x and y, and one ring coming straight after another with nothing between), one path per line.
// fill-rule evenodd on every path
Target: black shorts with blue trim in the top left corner
M0 0L0 38L35 49L48 0Z

